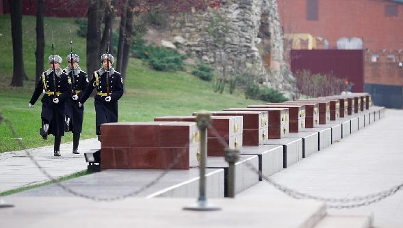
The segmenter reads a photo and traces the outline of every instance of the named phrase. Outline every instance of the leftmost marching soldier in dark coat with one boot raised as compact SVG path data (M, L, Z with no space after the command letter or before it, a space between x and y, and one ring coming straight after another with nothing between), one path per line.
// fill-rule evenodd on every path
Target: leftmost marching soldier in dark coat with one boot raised
M42 73L34 94L29 101L29 107L32 107L43 92L42 127L39 134L43 139L47 139L49 134L55 136L54 155L60 156L60 142L64 136L64 102L71 97L71 81L66 73L63 73L60 64L62 58L59 55L49 56L50 68ZM53 66L55 74L53 73Z

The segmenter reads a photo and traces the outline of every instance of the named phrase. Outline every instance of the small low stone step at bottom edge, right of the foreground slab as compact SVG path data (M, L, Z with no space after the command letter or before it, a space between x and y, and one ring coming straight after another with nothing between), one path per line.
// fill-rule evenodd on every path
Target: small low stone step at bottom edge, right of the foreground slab
M327 215L313 228L371 228L370 216Z

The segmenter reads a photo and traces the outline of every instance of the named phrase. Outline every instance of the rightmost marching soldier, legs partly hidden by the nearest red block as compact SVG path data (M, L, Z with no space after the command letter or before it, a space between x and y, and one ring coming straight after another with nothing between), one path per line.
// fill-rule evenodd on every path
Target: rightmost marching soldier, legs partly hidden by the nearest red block
M123 95L122 75L112 67L114 57L110 54L103 54L101 62L102 67L92 74L90 84L84 90L79 101L79 105L86 102L92 90L96 88L97 94L94 97L94 103L98 140L101 140L101 124L118 122L118 100ZM108 66L109 81L107 80Z

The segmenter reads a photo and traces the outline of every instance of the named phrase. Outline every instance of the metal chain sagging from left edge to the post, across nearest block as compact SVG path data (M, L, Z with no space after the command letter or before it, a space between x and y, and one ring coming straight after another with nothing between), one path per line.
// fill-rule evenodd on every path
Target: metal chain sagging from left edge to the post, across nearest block
M1 113L0 113L0 119L2 118ZM138 195L140 192L143 192L144 190L150 188L151 186L155 185L155 183L157 183L160 179L162 179L162 177L164 177L166 174L168 174L170 172L170 170L172 170L172 168L179 162L179 160L181 159L181 157L187 152L187 150L185 148L183 148L183 151L181 153L179 153L177 155L177 157L175 157L174 161L168 165L168 167L164 170L163 173L161 173L157 178L155 178L153 181L150 181L149 183L147 183L146 185L142 186L142 188L135 190L133 192L128 192L127 194L122 194L120 196L116 196L116 197L95 197L95 196L90 196L88 194L83 194L81 192L76 192L75 190L69 188L68 186L65 186L63 183L60 182L60 180L55 179L52 175L50 175L49 173L47 173L47 170L45 170L39 163L38 161L35 159L35 157L31 154L31 152L27 151L27 148L25 147L25 144L23 143L22 139L18 136L18 134L16 133L16 131L14 130L14 127L12 126L12 123L10 120L8 120L8 118L3 118L1 119L2 121L5 121L5 124L8 126L8 128L10 129L10 131L12 132L14 138L16 138L16 140L18 141L18 144L20 145L20 147L23 149L23 151L25 151L25 153L27 153L29 159L31 160L31 162L33 162L35 164L36 167L38 167L38 169L40 170L40 172L42 174L44 174L45 176L47 176L51 181L53 181L57 186L59 186L60 188L62 188L64 191L69 192L70 194L75 195L76 197L82 197L85 199L90 199L92 201L117 201L117 200L122 200L122 199L126 199L128 197L135 197L136 195ZM1 122L0 122L1 123ZM193 136L194 137L194 136ZM187 142L187 145L189 145L190 142ZM185 145L186 147L186 145Z

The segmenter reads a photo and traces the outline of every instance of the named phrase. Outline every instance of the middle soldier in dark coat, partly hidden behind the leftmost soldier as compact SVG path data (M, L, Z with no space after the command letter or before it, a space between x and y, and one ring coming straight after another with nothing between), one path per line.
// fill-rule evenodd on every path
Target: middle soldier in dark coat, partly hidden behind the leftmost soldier
M66 57L68 66L64 69L64 73L70 77L72 81L73 97L66 100L65 121L66 131L73 132L73 153L79 154L79 140L81 129L83 127L84 106L79 106L79 99L83 97L83 90L88 86L88 75L81 71L79 66L79 55L70 54ZM73 61L72 61L73 60ZM73 62L73 63L72 63Z

